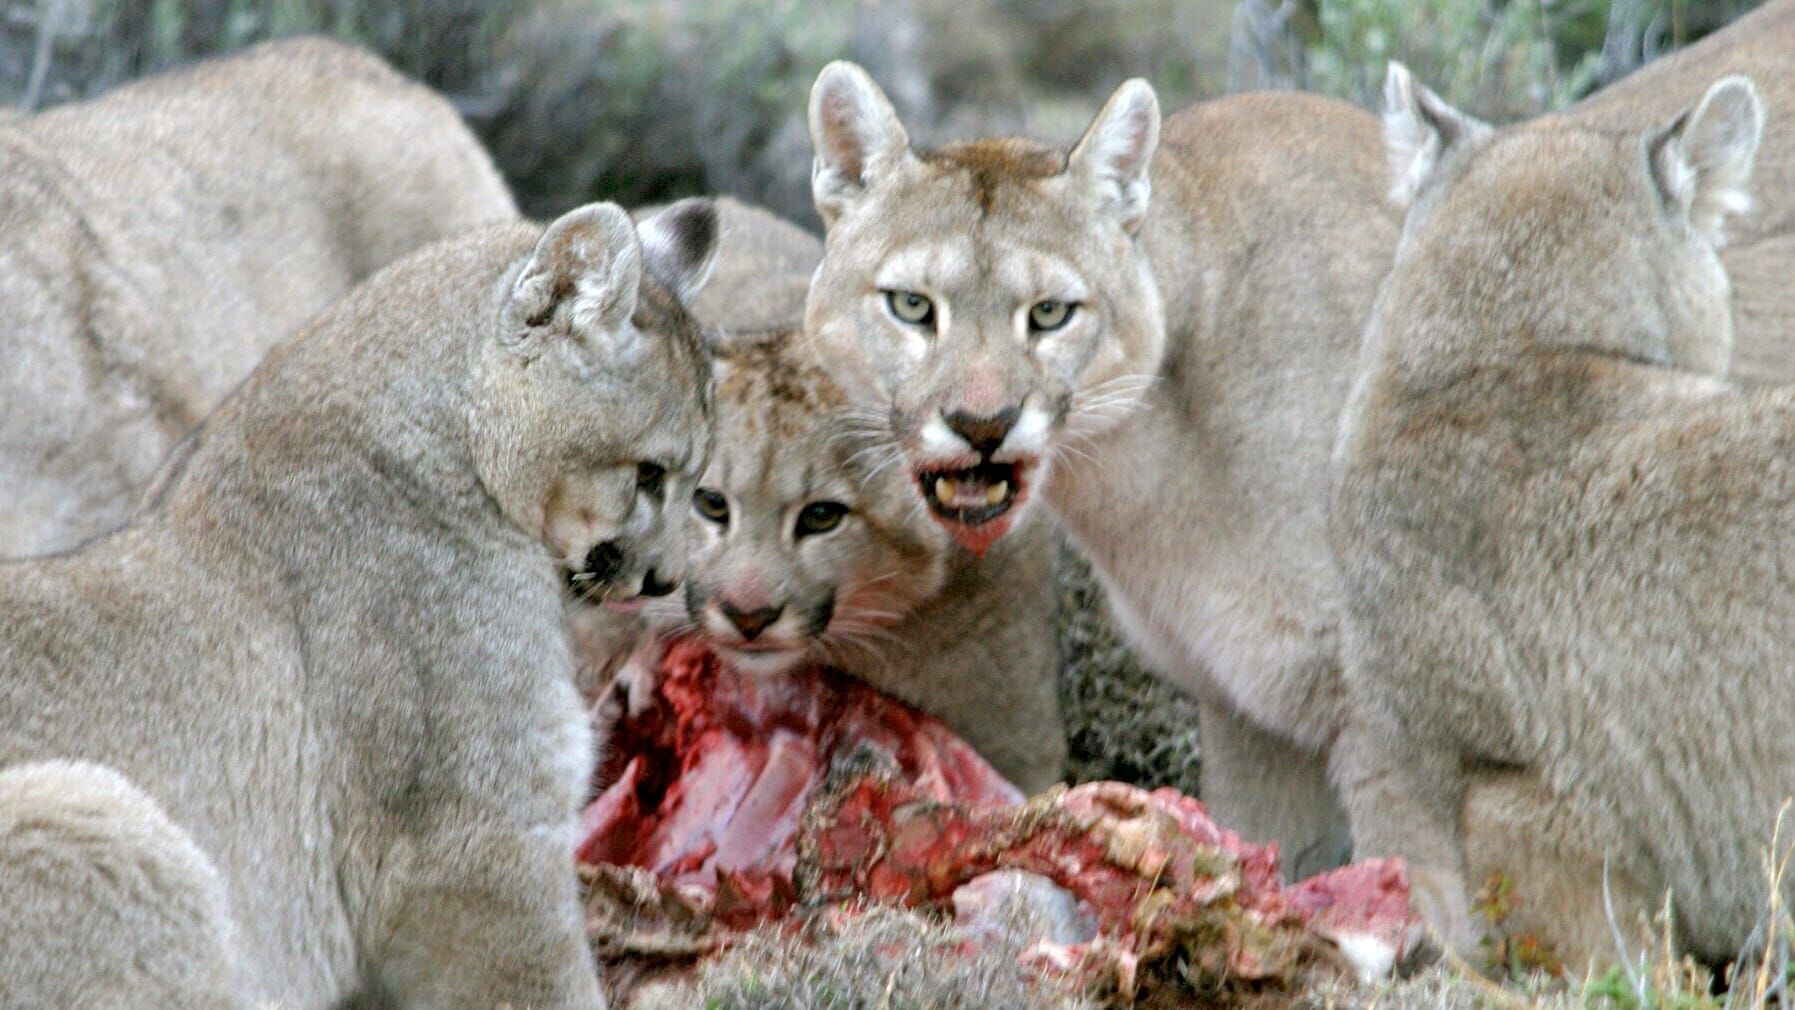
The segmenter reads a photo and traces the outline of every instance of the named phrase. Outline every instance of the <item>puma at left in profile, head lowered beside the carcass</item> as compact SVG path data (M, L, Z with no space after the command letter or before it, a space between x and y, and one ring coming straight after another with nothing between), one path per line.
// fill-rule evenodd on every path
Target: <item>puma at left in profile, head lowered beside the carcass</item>
M603 1006L564 572L670 592L691 201L381 271L120 531L0 567L0 1006Z

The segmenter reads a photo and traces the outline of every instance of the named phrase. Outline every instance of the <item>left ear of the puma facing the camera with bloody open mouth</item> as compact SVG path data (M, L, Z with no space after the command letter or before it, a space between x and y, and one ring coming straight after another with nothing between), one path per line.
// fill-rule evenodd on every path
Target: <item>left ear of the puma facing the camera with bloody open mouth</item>
M876 176L910 151L898 111L865 70L835 61L810 90L810 190L831 224Z

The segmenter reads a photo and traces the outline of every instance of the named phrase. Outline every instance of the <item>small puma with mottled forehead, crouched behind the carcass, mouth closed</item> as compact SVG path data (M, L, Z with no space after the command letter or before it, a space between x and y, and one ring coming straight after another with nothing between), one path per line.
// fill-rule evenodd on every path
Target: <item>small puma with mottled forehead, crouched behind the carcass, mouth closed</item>
M959 549L793 330L714 344L716 452L679 617L738 669L822 660L935 714L1025 791L1048 788L1066 762L1054 529L982 562Z

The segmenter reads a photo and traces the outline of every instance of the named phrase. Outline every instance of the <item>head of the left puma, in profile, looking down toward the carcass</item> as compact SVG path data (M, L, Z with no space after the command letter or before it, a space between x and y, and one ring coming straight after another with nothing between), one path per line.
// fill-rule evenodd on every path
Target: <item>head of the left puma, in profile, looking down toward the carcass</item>
M716 240L707 201L643 222L612 205L547 228L501 283L472 409L477 466L576 596L635 608L686 572L711 447L709 359L680 298Z

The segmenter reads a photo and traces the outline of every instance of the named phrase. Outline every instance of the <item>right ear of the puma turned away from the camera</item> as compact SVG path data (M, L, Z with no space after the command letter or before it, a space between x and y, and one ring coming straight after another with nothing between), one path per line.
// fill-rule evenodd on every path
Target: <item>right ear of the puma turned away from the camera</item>
M1651 176L1673 212L1709 242L1725 239L1727 215L1752 206L1747 183L1764 135L1764 108L1747 77L1721 77L1650 142Z

